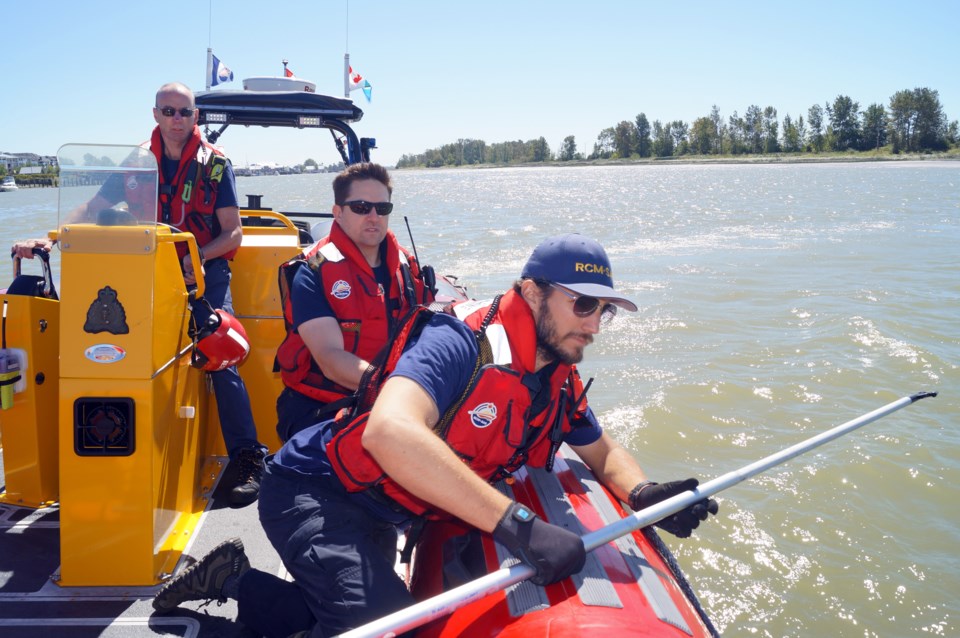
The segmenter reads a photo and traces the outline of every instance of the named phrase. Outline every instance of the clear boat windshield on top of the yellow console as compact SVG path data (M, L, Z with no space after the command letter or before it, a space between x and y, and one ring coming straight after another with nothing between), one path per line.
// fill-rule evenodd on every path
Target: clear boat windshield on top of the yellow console
M60 163L57 228L157 223L157 160L148 149L117 144L65 144Z

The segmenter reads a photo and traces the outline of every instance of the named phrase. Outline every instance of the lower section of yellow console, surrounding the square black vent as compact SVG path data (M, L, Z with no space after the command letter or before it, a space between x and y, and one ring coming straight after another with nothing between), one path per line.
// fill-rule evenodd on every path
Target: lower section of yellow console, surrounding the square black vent
M61 585L153 585L175 564L214 478L201 473L201 384L200 372L184 363L152 380L61 381ZM131 455L77 455L73 410L81 397L134 400Z

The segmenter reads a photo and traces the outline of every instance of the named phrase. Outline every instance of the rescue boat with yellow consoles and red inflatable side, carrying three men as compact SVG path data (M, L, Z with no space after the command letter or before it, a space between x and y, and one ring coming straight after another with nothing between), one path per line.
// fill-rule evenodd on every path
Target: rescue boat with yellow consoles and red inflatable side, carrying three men
M256 83L254 83L256 85ZM328 129L345 164L376 143L352 123L350 99L309 90L197 95L215 143L230 127ZM190 301L177 245L189 233L157 224L153 210L116 209L93 222L69 212L114 176L156 189L153 156L138 146L60 149L61 277L36 260L0 295L0 635L243 636L232 602L187 603L154 615L160 583L222 540L240 536L254 567L284 574L256 507L221 498L226 451L204 373L191 365ZM276 450L274 355L284 336L278 266L326 231L330 215L274 211L249 196L243 244L232 263L235 316L251 351L240 367L260 440ZM42 231L42 229L38 229ZM464 298L453 278L440 295ZM226 485L228 481L223 481ZM629 514L568 449L552 471L522 469L498 485L546 520L588 533ZM400 544L402 545L402 539ZM411 566L398 572L418 600L514 559L456 522L427 526ZM579 574L548 587L529 581L490 593L415 630L449 636L716 635L669 550L652 528L588 555Z

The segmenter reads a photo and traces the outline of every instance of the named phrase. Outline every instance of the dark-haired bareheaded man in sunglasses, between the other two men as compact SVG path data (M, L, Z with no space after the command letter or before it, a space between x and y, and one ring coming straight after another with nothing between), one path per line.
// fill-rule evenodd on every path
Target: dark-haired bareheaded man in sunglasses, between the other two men
M389 229L392 194L379 164L348 167L333 180L329 235L280 268L282 441L350 405L400 318L432 300L416 259Z

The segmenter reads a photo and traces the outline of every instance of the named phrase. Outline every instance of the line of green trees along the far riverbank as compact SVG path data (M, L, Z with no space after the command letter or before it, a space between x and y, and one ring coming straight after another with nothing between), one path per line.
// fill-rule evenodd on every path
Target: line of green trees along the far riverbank
M459 139L415 155L403 155L398 168L516 164L528 162L684 155L761 155L772 153L886 152L923 153L960 147L960 126L947 121L940 95L929 88L897 91L889 104L865 109L849 96L814 104L796 119L779 119L772 106L750 105L743 115L725 120L714 105L688 124L682 120L650 122L644 113L600 131L590 153L568 135L554 153L543 137L487 144Z

